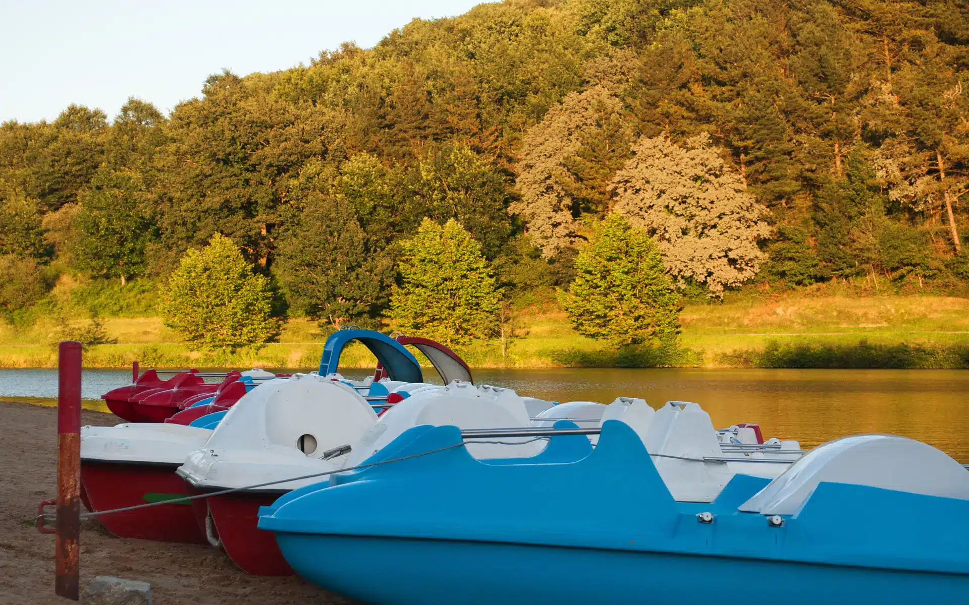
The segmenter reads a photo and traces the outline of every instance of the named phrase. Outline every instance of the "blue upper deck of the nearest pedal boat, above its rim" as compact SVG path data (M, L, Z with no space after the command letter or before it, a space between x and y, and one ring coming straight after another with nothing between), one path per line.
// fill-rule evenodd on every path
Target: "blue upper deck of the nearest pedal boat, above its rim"
M396 456L455 443L456 427L434 427ZM275 507L260 528L969 574L969 501L822 484L780 528L735 509L701 524L694 506L672 499L641 439L618 421L607 421L595 450L573 463L485 464L457 446L344 480ZM762 485L741 479L725 498L752 496ZM612 512L589 514L604 506Z

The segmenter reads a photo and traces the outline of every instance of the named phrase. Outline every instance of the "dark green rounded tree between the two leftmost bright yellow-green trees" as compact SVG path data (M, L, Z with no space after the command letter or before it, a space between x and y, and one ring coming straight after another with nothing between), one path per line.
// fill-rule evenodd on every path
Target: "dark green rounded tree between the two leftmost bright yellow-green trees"
M280 239L273 270L291 308L334 327L372 321L393 283L393 261L373 249L350 202L318 192Z

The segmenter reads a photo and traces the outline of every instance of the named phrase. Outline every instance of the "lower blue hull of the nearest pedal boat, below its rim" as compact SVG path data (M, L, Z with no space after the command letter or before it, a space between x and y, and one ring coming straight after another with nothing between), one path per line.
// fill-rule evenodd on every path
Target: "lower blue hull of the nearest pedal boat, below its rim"
M632 512L603 501L580 517ZM969 590L964 576L949 574L649 551L304 533L277 540L307 580L392 605L964 605ZM375 577L374 560L393 563Z

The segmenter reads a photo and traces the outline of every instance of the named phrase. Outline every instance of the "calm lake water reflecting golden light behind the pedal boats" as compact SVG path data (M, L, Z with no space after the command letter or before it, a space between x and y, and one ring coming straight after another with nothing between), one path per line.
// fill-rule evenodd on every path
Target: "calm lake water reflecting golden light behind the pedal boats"
M346 370L362 378L365 370ZM428 374L433 374L429 372ZM812 447L858 433L920 439L969 463L969 371L964 370L476 370L475 381L520 395L610 403L641 397L654 408L697 402L717 427L760 423L765 437ZM127 370L85 370L82 397L131 381ZM56 397L56 370L0 369L0 397ZM85 407L99 408L89 403ZM107 408L102 409L107 411Z

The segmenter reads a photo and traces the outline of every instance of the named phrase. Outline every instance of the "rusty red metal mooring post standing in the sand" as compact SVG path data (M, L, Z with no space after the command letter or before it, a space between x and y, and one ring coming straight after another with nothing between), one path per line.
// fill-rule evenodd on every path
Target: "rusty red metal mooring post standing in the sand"
M78 600L80 343L62 341L57 365L57 551L54 592Z

